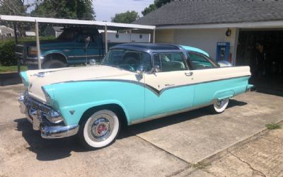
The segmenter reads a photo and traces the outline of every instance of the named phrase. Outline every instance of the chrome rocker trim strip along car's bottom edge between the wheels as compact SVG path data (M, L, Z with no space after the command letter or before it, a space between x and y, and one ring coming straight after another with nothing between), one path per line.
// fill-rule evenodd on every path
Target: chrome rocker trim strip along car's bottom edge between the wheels
M190 108L185 108L185 109L181 109L181 110L176 110L176 111L173 111L171 113L163 113L163 114L159 114L159 115L153 115L153 116L150 116L150 117L147 117L147 118L141 118L139 120L134 120L134 121L129 122L129 125L134 125L134 124L138 124L138 123L141 123L141 122L147 122L149 120L163 118L163 117L166 117L166 116L169 116L169 115L175 115L175 114L178 114L178 113L184 113L184 112L187 112L187 111L190 111L190 110L196 110L196 109L199 109L199 108L204 108L207 105L212 105L213 102L214 101L212 101L210 103L207 103L207 104L204 104L204 105L198 105L198 106L195 106L195 107L190 107Z

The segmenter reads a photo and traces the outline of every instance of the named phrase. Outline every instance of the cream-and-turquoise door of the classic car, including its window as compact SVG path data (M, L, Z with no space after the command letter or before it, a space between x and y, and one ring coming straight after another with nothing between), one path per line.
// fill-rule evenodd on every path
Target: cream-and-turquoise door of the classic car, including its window
M193 72L187 69L182 52L156 53L154 72L144 74L144 117L163 115L192 107Z

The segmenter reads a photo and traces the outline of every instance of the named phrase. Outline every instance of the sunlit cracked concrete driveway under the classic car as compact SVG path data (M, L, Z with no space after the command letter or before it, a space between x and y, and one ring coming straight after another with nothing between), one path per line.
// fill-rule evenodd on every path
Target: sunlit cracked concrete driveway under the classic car
M110 147L87 151L74 137L33 131L18 110L21 91L0 87L0 176L283 176L283 132L265 130L283 120L279 96L246 93L219 115L202 108L133 125ZM270 146L277 150L258 157Z

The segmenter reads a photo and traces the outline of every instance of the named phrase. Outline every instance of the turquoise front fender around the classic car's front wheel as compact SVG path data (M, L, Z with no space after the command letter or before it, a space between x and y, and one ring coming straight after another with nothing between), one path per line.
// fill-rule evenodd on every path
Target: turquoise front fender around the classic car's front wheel
M52 91L52 107L62 114L67 125L79 122L83 113L99 105L117 104L127 123L144 117L144 87L122 81L70 81L44 86Z

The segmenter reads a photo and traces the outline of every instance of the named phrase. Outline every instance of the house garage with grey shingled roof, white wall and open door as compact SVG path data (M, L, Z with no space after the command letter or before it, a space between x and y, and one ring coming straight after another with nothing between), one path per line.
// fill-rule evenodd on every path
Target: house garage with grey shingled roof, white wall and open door
M156 25L156 42L199 47L216 61L248 65L258 91L283 95L282 7L272 0L171 1L134 23Z

